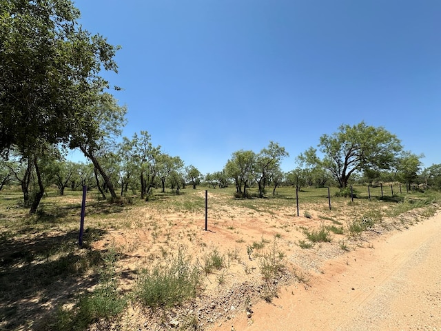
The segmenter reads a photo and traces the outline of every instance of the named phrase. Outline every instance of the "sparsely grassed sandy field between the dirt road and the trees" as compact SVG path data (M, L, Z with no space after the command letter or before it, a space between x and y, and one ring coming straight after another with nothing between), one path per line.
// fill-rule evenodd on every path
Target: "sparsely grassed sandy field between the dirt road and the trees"
M307 223L297 221L292 188L280 187L278 194L270 199L250 200L232 199L232 190L211 192L213 201L209 211L209 227L216 225L216 229L226 230L229 246L223 246L222 230L201 232L203 225L198 221L203 213L201 190L181 189L178 195L154 193L148 203L139 199L111 203L96 200L94 197L99 195L95 191L88 193L80 249L77 241L81 192L66 190L64 197L47 192L41 208L30 216L21 208L21 194L3 189L0 312L5 318L0 327L26 328L23 325L28 322L23 316L31 319L50 316L41 319L44 330L81 330L81 325L105 328L105 324L116 328L121 319L127 318L127 300L143 309L167 310L239 279L252 279L256 285L260 281L265 283L265 293L261 295L270 301L277 294L275 280L284 270L302 274L301 269L289 268L291 257L307 254L300 249L330 241L330 245L347 251L353 237L367 230L409 228L431 216L439 199L433 192L378 199L380 189L371 188L369 201L362 195L363 188L358 188L356 207L347 205L348 199L340 197L334 198L329 210L324 198L327 190L304 189L300 192L302 210L317 212L321 220L315 228L320 222L316 219L311 218ZM247 190L252 192L254 188ZM331 192L335 191L331 188ZM376 199L373 194L377 194ZM348 215L351 221L347 221ZM398 216L390 220L391 215ZM253 230L263 229L263 232L250 235L248 224ZM283 230L283 235L277 232L286 228L290 232ZM305 239L298 240L299 232ZM338 238L335 244L331 240L334 234ZM237 243L242 248L234 248ZM191 259L180 250L182 245L192 251ZM207 249L213 245L217 247ZM180 257L176 255L178 252ZM113 260L107 261L110 256ZM127 269L127 261L136 261L136 265ZM106 265L112 265L113 273ZM125 270L123 277L115 270ZM81 295L76 294L77 288L81 289ZM59 298L57 304L44 312L48 307L44 303L55 297ZM28 304L19 305L19 301ZM197 322L190 318L180 321L179 328L184 328L187 322Z

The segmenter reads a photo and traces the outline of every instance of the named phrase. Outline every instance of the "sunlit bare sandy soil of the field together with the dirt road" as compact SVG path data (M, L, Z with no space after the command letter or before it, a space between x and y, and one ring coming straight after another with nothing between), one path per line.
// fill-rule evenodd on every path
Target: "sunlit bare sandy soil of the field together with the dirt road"
M340 221L360 206L351 208L346 217L340 210ZM360 237L333 234L331 243L301 249L303 229L323 224L324 210L308 208L309 218L292 217L290 208L268 213L228 206L212 210L208 231L192 213L145 212L153 228L111 231L96 244L124 248L121 274L165 261L178 247L201 266L204 256L218 250L227 268L205 275L203 294L183 308L152 314L132 306L130 328L174 330L196 318L198 330L441 330L440 214L425 219L413 210ZM249 257L247 247L254 243L264 247ZM259 261L274 243L286 269L268 283ZM123 288L130 289L134 279L126 277Z

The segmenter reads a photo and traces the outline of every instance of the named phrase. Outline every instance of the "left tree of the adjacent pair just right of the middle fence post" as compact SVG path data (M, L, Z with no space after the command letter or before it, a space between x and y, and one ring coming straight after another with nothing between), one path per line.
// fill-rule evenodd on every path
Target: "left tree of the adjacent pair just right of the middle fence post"
M236 195L247 197L247 186L252 183L253 170L256 162L256 153L252 150L238 150L225 165L225 173L236 183Z

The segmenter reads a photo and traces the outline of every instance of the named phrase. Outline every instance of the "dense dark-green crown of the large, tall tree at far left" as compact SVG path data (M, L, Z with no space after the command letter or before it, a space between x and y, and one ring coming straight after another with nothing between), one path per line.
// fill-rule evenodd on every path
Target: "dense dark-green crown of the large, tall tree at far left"
M77 23L66 0L0 0L0 152L30 155L41 143L93 135L93 106L116 72L118 47ZM74 146L76 147L76 146Z

